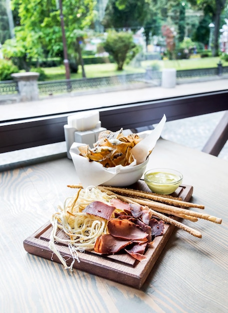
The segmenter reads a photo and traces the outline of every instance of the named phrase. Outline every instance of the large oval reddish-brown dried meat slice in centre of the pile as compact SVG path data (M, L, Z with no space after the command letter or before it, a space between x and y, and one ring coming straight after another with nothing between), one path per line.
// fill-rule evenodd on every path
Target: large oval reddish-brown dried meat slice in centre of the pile
M147 241L148 236L148 233L128 219L110 219L108 221L108 231L114 237L128 240Z

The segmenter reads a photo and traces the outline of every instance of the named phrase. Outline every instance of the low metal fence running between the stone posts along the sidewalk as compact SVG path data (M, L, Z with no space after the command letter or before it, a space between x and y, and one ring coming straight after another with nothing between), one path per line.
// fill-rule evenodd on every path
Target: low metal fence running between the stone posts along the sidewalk
M177 78L194 78L216 76L228 73L228 66L212 67L212 68L198 68L177 70ZM40 95L61 94L72 91L84 90L98 90L99 88L106 88L111 86L123 86L139 82L153 82L156 85L161 83L162 71L147 68L143 73L106 76L96 78L80 78L80 79L64 79L53 81L38 81L38 89ZM17 94L17 83L13 80L0 81L0 95Z

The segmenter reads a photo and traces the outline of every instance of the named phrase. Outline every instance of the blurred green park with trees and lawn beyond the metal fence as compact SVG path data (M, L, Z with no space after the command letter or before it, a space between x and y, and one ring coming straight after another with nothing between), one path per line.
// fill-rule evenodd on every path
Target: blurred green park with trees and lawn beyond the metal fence
M228 65L227 0L0 0L0 80Z

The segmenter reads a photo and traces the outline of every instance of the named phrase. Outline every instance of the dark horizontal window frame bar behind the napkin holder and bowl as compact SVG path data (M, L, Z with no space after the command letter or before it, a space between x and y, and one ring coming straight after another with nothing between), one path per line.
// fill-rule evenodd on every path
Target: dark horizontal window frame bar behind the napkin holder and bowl
M94 107L90 110L94 109L99 110L101 124L107 129L115 131L123 127L137 130L138 127L158 123L163 114L167 121L171 121L228 110L228 90ZM63 126L67 124L67 116L76 112L2 121L0 153L65 141Z

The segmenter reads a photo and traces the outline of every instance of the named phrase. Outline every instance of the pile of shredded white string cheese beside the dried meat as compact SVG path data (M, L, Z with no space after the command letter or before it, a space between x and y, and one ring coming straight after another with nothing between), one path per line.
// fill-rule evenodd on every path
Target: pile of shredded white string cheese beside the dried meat
M107 220L95 215L83 212L83 209L93 201L102 201L109 204L113 196L107 195L94 186L85 189L79 189L77 194L65 199L63 208L52 214L51 224L52 231L50 234L49 248L59 258L64 268L72 270L75 260L78 262L78 252L94 247L96 239L101 234L107 233ZM61 235L62 230L64 236ZM68 245L72 262L67 265L65 258L60 254L57 244L63 243Z

